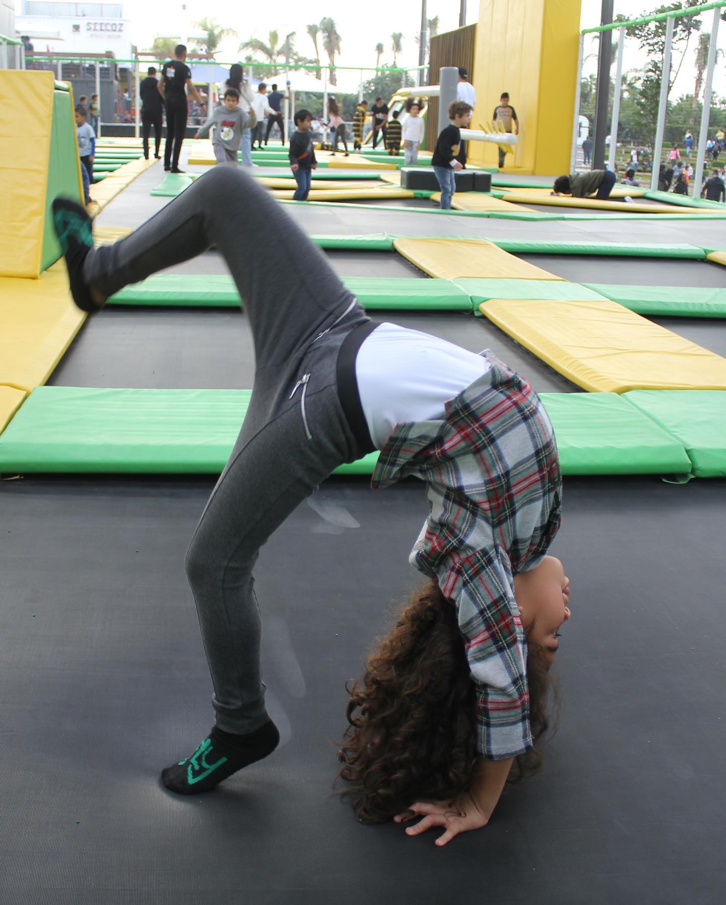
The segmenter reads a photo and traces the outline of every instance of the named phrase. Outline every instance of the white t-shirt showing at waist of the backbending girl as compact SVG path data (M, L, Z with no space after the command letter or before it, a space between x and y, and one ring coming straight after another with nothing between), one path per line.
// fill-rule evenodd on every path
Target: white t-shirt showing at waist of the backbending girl
M396 424L443 418L444 404L489 368L486 358L445 339L380 324L356 358L358 395L376 448L383 449Z

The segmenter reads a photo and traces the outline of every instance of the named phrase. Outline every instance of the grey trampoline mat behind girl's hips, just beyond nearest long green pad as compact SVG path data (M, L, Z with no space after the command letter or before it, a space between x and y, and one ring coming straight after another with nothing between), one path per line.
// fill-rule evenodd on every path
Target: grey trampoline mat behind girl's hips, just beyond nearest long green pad
M579 392L485 318L463 311L373 311L387 320L481 352L491 348L539 393ZM249 321L234 309L107 308L83 325L50 386L250 389Z

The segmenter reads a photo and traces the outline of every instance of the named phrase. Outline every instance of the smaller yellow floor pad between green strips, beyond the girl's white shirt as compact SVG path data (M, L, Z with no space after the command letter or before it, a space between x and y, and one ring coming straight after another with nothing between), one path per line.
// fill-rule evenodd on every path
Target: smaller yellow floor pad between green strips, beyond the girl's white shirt
M465 277L502 280L561 280L486 239L395 239L393 247L419 270L442 280Z

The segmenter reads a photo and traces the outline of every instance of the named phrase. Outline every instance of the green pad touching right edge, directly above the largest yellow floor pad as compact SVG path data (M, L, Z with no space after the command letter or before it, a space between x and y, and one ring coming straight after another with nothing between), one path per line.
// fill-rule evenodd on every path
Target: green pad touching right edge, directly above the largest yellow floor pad
M585 285L638 314L726 318L726 289L700 286L620 286L611 283Z

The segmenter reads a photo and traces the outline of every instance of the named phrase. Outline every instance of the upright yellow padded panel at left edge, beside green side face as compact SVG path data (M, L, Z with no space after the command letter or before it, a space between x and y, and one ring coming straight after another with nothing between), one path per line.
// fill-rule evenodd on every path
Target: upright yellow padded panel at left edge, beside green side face
M41 271L53 72L0 70L0 276Z

